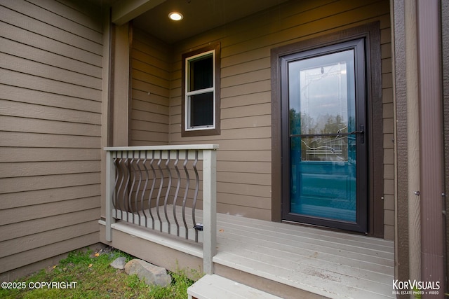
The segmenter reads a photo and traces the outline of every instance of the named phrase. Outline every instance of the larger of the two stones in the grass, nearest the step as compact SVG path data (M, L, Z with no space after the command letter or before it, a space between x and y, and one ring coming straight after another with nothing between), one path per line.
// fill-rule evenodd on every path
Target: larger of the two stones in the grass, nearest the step
M171 284L171 277L167 274L167 270L163 267L147 263L145 260L139 260L138 258L126 263L125 272L129 275L137 274L139 279L145 281L145 284L154 284L163 287Z

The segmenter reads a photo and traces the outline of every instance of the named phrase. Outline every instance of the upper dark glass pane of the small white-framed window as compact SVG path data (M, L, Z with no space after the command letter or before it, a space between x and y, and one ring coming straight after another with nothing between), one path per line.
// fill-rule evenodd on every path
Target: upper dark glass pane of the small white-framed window
M213 87L213 55L189 61L189 90L202 90Z

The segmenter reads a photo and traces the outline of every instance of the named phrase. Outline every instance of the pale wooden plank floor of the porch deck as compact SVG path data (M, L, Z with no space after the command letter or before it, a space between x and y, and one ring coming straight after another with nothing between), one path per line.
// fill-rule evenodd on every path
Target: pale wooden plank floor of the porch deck
M197 211L197 221L201 216ZM147 229L121 225L130 235L152 240L145 236L151 234ZM172 240L159 244L202 257L199 244ZM384 239L217 214L213 261L217 267L328 298L395 298L394 243Z

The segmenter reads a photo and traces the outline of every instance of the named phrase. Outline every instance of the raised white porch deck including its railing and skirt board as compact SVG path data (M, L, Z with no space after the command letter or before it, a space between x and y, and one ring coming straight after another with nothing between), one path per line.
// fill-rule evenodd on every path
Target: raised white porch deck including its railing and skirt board
M215 151L107 148L101 241L168 270L218 274L281 298L395 298L392 241L216 213Z

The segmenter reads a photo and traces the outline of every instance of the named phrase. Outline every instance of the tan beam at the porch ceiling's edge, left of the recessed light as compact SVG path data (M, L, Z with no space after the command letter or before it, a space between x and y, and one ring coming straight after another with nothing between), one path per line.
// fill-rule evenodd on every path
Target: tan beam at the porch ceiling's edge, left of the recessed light
M116 1L112 6L112 22L123 25L133 18L149 11L166 0L127 0Z

